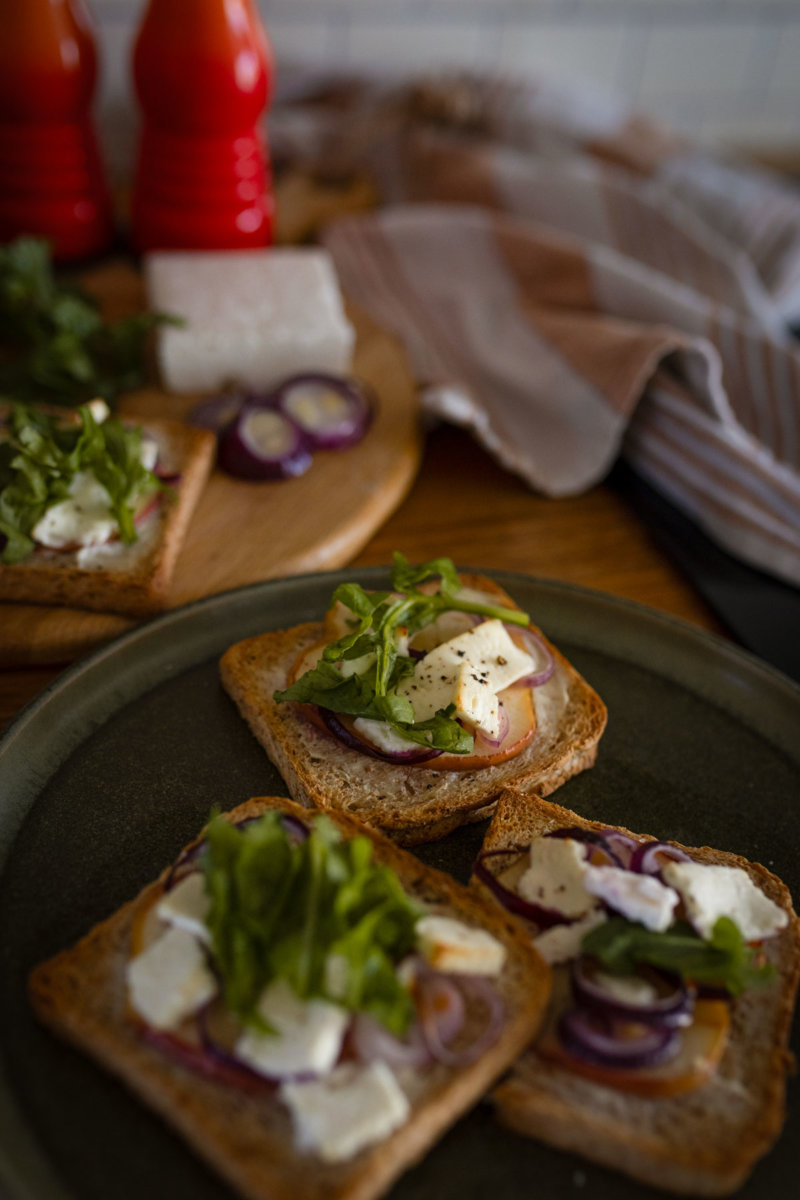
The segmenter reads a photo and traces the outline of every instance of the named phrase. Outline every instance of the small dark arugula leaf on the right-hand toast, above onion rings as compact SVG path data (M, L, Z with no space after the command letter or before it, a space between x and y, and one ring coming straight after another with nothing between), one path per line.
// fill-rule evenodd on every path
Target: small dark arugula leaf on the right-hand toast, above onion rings
M620 974L630 974L644 962L694 983L724 988L732 996L762 986L775 974L774 967L756 962L752 947L728 917L720 917L708 941L686 922L658 934L614 917L585 935L582 952Z

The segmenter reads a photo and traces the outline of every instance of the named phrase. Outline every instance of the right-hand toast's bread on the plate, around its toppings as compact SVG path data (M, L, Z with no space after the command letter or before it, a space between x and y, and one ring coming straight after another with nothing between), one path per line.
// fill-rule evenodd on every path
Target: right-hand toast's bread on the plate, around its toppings
M608 828L510 790L499 799L485 850L527 847L551 829L570 826ZM787 926L763 943L776 978L732 1002L728 1044L711 1078L679 1096L632 1096L547 1061L534 1045L493 1099L501 1121L522 1134L652 1187L727 1195L744 1183L783 1124L786 1075L793 1066L787 1042L800 972L800 922L787 887L766 868L708 846L681 848L697 862L742 868L789 914ZM480 883L475 886L488 895Z

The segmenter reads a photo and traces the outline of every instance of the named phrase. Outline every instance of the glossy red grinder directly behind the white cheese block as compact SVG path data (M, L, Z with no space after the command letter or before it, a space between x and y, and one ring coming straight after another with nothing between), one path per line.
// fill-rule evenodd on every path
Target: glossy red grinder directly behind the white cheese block
M133 53L143 109L131 233L139 251L272 240L272 56L252 0L150 0Z

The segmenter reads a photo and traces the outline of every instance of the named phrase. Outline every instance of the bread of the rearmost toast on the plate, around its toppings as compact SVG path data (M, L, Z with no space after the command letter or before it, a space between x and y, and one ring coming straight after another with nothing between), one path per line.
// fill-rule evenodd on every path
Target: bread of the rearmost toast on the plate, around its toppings
M492 580L461 578L465 587L512 604ZM276 689L287 686L299 655L323 635L321 622L261 634L231 646L221 660L227 691L300 804L348 812L398 844L415 846L489 816L509 785L548 794L595 762L606 707L549 642L555 671L534 689L536 732L516 757L452 772L433 764L397 766L351 750L320 730L300 706L272 698Z

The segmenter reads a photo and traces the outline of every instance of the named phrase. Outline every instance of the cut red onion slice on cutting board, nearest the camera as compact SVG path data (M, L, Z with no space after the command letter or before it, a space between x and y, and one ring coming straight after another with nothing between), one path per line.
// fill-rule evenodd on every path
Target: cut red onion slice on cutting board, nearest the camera
M245 406L219 434L218 463L237 479L270 480L302 475L311 451L301 430L283 413Z

